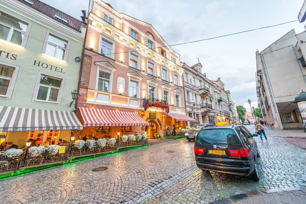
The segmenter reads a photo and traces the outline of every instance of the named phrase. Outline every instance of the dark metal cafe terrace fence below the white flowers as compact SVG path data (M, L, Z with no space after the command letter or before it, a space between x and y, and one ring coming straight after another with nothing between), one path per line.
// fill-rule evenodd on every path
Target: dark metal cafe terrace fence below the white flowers
M84 157L96 154L103 154L105 152L116 151L118 148L138 146L148 144L148 139L141 139L139 141L122 141L122 138L116 143L106 144L103 147L94 145L92 148L84 146L78 148L74 143L69 143L68 145L61 145L61 149L56 154L48 154L47 151L42 154L32 156L29 154L29 148L23 149L23 154L19 157L8 158L6 155L0 156L0 174L6 174L11 172L16 172L19 169L31 168L36 166L44 166L48 164L56 164L67 162L69 158Z

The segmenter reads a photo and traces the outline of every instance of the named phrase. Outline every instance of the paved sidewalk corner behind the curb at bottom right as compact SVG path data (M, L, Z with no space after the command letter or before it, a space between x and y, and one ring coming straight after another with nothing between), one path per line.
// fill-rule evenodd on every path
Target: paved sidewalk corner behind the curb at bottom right
M303 191L288 191L262 194L256 197L250 197L245 200L234 202L235 204L303 204L306 200L306 190Z

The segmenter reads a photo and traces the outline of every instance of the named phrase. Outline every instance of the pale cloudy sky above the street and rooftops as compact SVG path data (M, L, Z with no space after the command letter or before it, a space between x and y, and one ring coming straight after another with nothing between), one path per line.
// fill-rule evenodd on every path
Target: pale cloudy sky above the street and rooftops
M88 0L41 0L75 18L88 9ZM297 20L304 0L107 0L118 12L151 23L168 44L205 39L267 25ZM221 78L232 100L249 110L257 107L256 58L261 51L292 29L294 22L230 37L173 46L188 65L199 58L210 80Z

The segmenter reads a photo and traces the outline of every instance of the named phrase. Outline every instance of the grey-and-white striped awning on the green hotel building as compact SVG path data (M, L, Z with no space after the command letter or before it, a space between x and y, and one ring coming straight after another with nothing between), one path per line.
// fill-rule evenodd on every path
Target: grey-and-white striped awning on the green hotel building
M73 112L0 106L0 131L82 130Z

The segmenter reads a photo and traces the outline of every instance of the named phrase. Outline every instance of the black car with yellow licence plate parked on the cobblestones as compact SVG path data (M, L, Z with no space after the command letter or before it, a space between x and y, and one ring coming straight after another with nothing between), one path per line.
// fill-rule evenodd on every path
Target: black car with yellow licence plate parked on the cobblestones
M257 143L243 125L200 130L195 139L194 154L196 165L202 170L250 175L253 181L259 181Z

